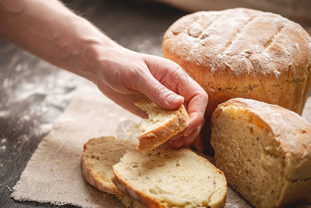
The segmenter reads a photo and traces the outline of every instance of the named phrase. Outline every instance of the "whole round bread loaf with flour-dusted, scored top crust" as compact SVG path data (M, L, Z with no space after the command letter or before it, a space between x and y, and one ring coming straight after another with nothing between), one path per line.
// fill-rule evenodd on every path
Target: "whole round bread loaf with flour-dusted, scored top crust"
M162 48L206 90L208 116L237 97L303 111L311 37L289 19L245 8L195 12L168 28Z

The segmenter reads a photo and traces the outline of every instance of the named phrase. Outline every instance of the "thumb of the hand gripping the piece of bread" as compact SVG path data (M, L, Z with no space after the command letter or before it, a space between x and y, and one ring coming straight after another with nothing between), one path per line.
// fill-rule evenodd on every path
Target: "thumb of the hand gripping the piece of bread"
M175 110L184 103L183 96L172 92L153 76L150 76L148 80L142 83L140 91L163 109Z

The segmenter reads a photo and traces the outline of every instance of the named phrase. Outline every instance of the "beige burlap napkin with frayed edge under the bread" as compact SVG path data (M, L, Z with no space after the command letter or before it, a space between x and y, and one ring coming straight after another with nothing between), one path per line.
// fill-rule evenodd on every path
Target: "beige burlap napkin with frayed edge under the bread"
M304 116L311 121L310 99ZM116 126L125 119L141 120L103 96L94 85L80 87L35 150L13 188L12 198L54 205L124 207L114 196L98 191L84 180L80 155L90 138L116 135ZM229 188L226 207L249 205Z

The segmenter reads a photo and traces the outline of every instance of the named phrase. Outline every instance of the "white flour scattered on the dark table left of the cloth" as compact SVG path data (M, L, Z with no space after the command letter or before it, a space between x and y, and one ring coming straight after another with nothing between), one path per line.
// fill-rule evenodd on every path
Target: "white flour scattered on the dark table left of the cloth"
M19 148L33 137L48 133L52 122L71 101L74 89L84 82L83 78L73 73L35 59L28 52L13 55L9 66L13 67L16 74L5 78L0 84L0 87L6 88L3 102L0 102L0 119L12 119L15 122L11 131L17 133L17 141L12 144L12 148ZM36 64L30 69L26 62ZM37 76L34 73L44 70L49 71L48 76ZM6 138L0 138L0 142L2 153L8 148L5 146Z

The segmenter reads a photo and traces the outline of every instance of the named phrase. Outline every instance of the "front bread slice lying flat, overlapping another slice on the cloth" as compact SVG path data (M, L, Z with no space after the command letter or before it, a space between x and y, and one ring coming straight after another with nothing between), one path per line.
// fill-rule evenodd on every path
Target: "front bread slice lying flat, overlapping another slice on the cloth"
M226 201L222 171L187 148L127 150L113 168L116 187L145 207L224 207Z

